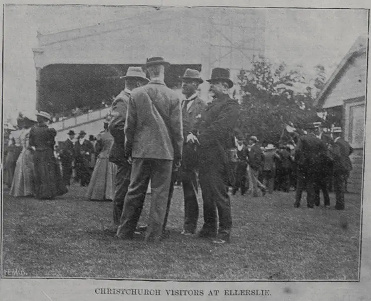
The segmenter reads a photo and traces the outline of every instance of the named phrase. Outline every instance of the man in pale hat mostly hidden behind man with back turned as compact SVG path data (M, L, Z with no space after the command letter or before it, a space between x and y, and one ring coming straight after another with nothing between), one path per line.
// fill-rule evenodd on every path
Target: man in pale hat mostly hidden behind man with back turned
M115 196L113 200L113 226L115 233L120 224L125 195L130 184L131 165L125 157L125 121L131 91L146 85L150 80L141 67L129 67L125 80L125 89L116 96L111 105L111 122L108 129L114 142L109 154L109 160L117 165Z

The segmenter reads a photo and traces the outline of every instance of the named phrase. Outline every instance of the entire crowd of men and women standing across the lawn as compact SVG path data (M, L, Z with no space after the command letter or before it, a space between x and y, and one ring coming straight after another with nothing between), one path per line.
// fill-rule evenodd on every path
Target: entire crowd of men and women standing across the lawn
M74 141L74 131L68 132L58 151L61 170L53 154L56 132L47 126L50 115L24 117L21 130L11 134L4 164L10 194L41 199L62 195L75 168L74 180L88 186L87 198L113 201L112 225L105 231L126 240L139 235L149 242L160 241L167 231L177 181L184 195L182 234L196 234L200 190L203 226L197 235L215 244L231 239L230 187L232 194L240 189L252 197L294 188L294 207L300 206L305 189L307 207L314 208L320 205L320 190L325 206L330 205L328 188L334 183L335 209L345 208L352 148L341 128L327 134L312 123L290 143L263 147L256 136L245 140L237 129L240 105L229 96L233 82L228 69L212 70L207 82L213 101L206 104L198 93L203 82L199 72L185 71L181 100L165 85L169 65L152 57L142 67L129 67L125 89L114 99L97 140L86 140L81 131ZM149 184L148 225L138 227Z

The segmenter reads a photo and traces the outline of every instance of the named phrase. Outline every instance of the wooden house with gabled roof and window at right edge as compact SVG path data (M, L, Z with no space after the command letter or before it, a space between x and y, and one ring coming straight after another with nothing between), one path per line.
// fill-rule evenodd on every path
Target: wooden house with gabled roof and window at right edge
M316 99L323 110L340 116L343 136L354 148L347 190L362 192L365 142L367 38L360 36L340 62Z

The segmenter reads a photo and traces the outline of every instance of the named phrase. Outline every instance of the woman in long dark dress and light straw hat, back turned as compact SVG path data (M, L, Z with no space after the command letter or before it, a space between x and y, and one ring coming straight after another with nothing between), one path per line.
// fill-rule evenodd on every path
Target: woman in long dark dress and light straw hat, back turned
M29 145L35 148L35 197L53 199L67 193L67 188L54 156L55 136L57 132L50 129L47 123L51 117L46 112L36 114L38 124L29 133Z

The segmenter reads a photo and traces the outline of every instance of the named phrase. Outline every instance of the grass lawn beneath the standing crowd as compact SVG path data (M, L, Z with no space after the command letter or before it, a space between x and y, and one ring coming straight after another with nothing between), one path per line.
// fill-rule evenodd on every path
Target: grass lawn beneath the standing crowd
M3 269L27 277L177 280L358 280L361 196L346 195L346 210L323 203L294 208L294 192L231 196L229 245L182 236L183 193L175 188L170 236L159 244L123 241L102 230L111 202L84 199L72 186L58 199L3 198ZM321 200L322 202L322 200ZM148 216L148 195L140 224ZM199 197L199 204L202 204ZM202 207L202 206L201 206ZM202 225L202 210L198 229Z

